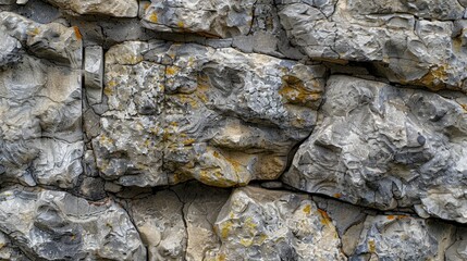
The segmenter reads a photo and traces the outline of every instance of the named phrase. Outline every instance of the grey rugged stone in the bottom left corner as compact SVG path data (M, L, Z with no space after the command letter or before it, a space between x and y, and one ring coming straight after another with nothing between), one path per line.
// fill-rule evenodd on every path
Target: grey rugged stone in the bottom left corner
M145 260L126 212L66 192L11 188L0 192L0 229L34 259Z

